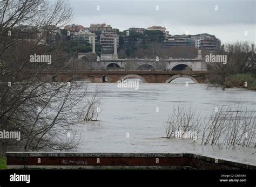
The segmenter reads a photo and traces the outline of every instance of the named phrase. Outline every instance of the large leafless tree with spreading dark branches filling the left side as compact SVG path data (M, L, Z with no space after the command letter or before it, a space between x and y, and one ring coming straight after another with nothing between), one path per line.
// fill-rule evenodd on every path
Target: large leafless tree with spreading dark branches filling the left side
M2 1L0 12L0 131L21 132L19 146L25 150L75 148L79 136L73 129L87 112L83 100L90 92L76 77L64 83L52 83L55 75L41 80L43 72L65 54L59 53L61 46L49 52L47 46L38 45L49 31L69 23L70 4L65 0ZM41 34L35 40L24 38L15 32L22 24L40 28ZM34 55L39 57L32 59ZM72 67L72 60L58 70L66 67ZM0 143L18 142L1 139Z

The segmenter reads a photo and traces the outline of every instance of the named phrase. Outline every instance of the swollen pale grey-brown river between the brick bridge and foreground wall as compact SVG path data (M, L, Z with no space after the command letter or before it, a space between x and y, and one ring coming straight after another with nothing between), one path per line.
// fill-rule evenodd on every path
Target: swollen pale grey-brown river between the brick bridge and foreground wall
M187 84L186 84L187 83ZM166 139L166 123L178 103L196 108L203 117L224 102L240 102L256 110L256 91L209 88L179 78L176 83L139 83L139 89L118 88L117 83L89 83L90 89L102 85L99 122L80 124L77 152L88 153L197 153L256 164L255 148L226 149L201 146L191 139ZM186 86L187 85L187 86ZM255 142L255 140L254 140Z

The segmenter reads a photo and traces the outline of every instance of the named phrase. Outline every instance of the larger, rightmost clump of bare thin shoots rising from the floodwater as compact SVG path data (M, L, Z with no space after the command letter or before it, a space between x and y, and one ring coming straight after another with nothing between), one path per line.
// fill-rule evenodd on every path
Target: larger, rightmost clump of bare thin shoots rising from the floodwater
M224 103L217 107L205 121L204 145L220 145L226 148L252 147L255 140L255 112L243 108L241 103Z

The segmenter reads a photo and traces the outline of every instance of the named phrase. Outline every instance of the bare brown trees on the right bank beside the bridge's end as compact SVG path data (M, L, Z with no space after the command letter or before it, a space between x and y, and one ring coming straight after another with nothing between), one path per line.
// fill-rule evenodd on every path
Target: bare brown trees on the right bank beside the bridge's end
M225 88L242 87L254 89L256 82L256 54L253 44L235 42L221 47L213 55L226 55L227 62L207 62L211 72L210 82L223 90ZM237 76L240 74L240 76ZM245 76L247 74L248 76ZM241 78L243 76L244 78ZM250 77L248 80L247 78ZM238 79L239 78L239 79ZM253 79L254 81L251 81ZM241 83L241 80L244 82Z

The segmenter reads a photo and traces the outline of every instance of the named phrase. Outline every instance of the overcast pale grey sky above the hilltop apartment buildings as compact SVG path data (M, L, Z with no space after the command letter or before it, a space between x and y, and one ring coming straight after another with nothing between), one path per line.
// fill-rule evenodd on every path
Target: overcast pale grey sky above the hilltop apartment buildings
M256 43L255 0L70 0L70 3L75 13L73 23L84 27L106 23L123 31L129 27L160 25L172 35L186 31L188 34L209 33L223 43L237 40Z

